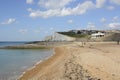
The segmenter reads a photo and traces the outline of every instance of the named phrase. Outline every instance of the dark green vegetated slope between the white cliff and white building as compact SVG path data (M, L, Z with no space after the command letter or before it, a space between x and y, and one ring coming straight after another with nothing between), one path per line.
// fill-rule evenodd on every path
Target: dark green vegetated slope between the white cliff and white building
M89 36L88 34L76 34L74 32L58 32L58 33L75 38L87 38Z

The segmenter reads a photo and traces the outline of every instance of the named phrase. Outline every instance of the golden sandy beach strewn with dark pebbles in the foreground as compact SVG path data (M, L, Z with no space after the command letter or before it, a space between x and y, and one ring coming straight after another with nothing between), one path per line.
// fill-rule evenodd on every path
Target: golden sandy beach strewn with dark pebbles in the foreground
M120 45L115 42L74 42L55 48L55 54L19 80L120 80Z

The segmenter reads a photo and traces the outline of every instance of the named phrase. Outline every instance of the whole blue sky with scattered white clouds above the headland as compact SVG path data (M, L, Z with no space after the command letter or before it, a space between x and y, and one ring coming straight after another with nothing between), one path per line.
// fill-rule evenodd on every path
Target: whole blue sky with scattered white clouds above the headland
M120 0L0 0L0 41L73 29L120 29Z

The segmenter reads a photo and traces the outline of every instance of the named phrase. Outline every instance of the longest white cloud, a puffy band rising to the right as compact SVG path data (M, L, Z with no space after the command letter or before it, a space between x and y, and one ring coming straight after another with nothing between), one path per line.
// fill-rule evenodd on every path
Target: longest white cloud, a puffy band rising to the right
M43 17L43 18L48 18L52 16L69 16L69 15L82 15L86 13L89 9L93 9L94 4L92 1L85 1L82 4L78 4L74 8L58 8L58 9L49 9L46 11L41 11L41 10L32 10L29 8L29 16L32 18L36 17Z

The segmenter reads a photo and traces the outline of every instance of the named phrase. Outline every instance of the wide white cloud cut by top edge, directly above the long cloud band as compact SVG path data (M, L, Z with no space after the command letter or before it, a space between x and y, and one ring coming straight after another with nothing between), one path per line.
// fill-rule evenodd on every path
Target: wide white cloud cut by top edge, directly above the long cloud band
M39 0L39 5L47 9L63 8L74 0Z

